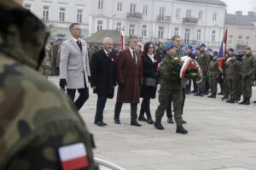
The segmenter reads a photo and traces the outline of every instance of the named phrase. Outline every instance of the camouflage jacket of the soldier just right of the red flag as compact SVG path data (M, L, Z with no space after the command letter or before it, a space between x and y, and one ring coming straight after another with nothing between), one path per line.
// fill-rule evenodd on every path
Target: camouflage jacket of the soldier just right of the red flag
M241 62L237 59L229 59L225 64L225 75L227 79L238 79L241 75Z

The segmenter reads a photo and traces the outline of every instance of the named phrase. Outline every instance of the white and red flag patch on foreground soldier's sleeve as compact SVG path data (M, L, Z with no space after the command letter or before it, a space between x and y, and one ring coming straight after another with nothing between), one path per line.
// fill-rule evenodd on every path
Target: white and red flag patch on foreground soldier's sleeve
M63 170L82 169L89 166L83 143L69 144L58 149Z

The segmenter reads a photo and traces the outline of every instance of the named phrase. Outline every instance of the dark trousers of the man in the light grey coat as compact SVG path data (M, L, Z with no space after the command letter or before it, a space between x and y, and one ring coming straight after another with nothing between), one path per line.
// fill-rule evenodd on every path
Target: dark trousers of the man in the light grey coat
M67 95L74 101L75 94L77 89L69 89L67 88ZM74 102L77 106L78 111L84 105L85 101L89 99L89 89L88 88L79 88L79 98Z

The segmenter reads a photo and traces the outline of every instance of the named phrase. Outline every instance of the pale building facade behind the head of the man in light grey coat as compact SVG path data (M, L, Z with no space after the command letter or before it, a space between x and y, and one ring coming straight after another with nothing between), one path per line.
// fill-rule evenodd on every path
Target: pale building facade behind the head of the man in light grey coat
M78 22L88 37L88 3L90 0L24 0L23 6L44 20L51 37L65 40L70 36L69 26Z

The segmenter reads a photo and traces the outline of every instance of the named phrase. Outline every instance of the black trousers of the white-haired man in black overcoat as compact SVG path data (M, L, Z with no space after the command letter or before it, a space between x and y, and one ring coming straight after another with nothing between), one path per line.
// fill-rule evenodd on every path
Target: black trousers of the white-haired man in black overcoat
M106 101L107 101L107 96L98 94L95 122L103 121L103 111L105 108Z

